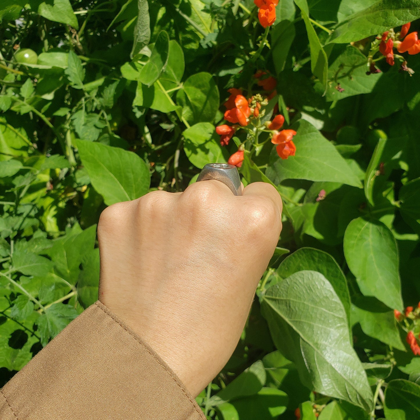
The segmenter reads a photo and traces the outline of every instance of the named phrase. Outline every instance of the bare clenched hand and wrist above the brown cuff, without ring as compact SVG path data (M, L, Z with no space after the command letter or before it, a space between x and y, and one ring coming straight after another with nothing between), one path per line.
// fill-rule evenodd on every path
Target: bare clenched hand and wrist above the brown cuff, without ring
M209 180L102 212L99 299L194 397L239 341L277 245L281 210L269 184L249 184L237 197Z

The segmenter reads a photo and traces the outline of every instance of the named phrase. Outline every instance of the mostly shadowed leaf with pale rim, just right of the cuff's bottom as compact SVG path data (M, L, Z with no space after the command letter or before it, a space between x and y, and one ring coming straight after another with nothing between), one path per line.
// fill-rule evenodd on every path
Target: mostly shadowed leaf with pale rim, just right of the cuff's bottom
M209 404L220 405L240 397L257 394L265 384L266 373L261 360L245 369L237 378L210 398Z

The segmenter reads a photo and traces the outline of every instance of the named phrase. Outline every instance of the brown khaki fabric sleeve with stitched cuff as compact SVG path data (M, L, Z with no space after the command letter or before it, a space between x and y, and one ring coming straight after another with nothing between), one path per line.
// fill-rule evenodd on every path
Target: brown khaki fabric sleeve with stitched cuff
M205 420L166 363L97 301L0 393L4 420Z

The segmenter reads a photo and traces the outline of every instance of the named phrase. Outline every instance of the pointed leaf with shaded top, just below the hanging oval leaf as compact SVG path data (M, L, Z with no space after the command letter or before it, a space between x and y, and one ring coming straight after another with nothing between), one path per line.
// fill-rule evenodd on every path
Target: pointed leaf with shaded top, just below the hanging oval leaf
M352 324L360 323L366 335L405 351L393 310L373 297L353 297L352 301Z

